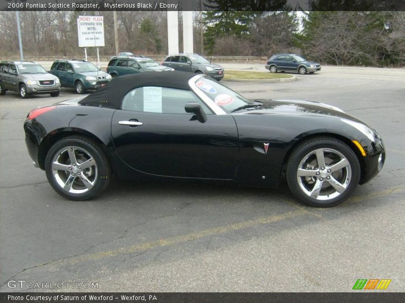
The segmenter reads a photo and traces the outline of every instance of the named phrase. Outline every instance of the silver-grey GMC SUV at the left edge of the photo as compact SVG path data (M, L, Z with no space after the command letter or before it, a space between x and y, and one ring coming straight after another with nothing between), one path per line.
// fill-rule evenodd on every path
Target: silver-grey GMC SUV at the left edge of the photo
M0 62L0 95L7 90L20 93L23 98L31 94L49 93L57 97L60 91L58 77L48 73L41 65L31 61Z

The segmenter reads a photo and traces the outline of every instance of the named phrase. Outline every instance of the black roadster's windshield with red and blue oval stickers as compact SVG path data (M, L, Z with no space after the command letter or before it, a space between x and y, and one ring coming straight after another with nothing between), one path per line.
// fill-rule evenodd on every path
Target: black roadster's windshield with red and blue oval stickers
M195 85L228 114L240 107L254 104L232 89L208 77L199 78L195 81Z

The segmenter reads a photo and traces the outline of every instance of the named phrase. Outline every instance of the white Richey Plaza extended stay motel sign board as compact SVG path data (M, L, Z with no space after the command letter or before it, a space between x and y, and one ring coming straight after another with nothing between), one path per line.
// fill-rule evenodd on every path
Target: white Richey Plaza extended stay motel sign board
M79 16L77 18L79 47L104 46L104 17Z

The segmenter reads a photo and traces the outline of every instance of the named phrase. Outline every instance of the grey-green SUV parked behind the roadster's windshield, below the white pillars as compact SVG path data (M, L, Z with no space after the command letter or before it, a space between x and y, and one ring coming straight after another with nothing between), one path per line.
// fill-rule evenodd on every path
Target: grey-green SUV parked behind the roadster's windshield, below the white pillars
M220 81L224 77L224 69L218 64L212 64L197 54L178 54L167 56L161 65L174 68L176 71L206 74Z

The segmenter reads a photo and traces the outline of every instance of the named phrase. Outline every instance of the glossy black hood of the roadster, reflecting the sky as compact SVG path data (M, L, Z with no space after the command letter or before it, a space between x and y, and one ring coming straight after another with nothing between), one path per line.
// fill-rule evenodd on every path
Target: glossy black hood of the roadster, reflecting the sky
M252 115L303 115L303 116L322 116L330 118L344 118L354 120L360 123L360 120L346 114L341 109L332 105L323 104L306 100L280 100L280 99L255 99L263 103L263 106L257 110L242 112L241 114Z

